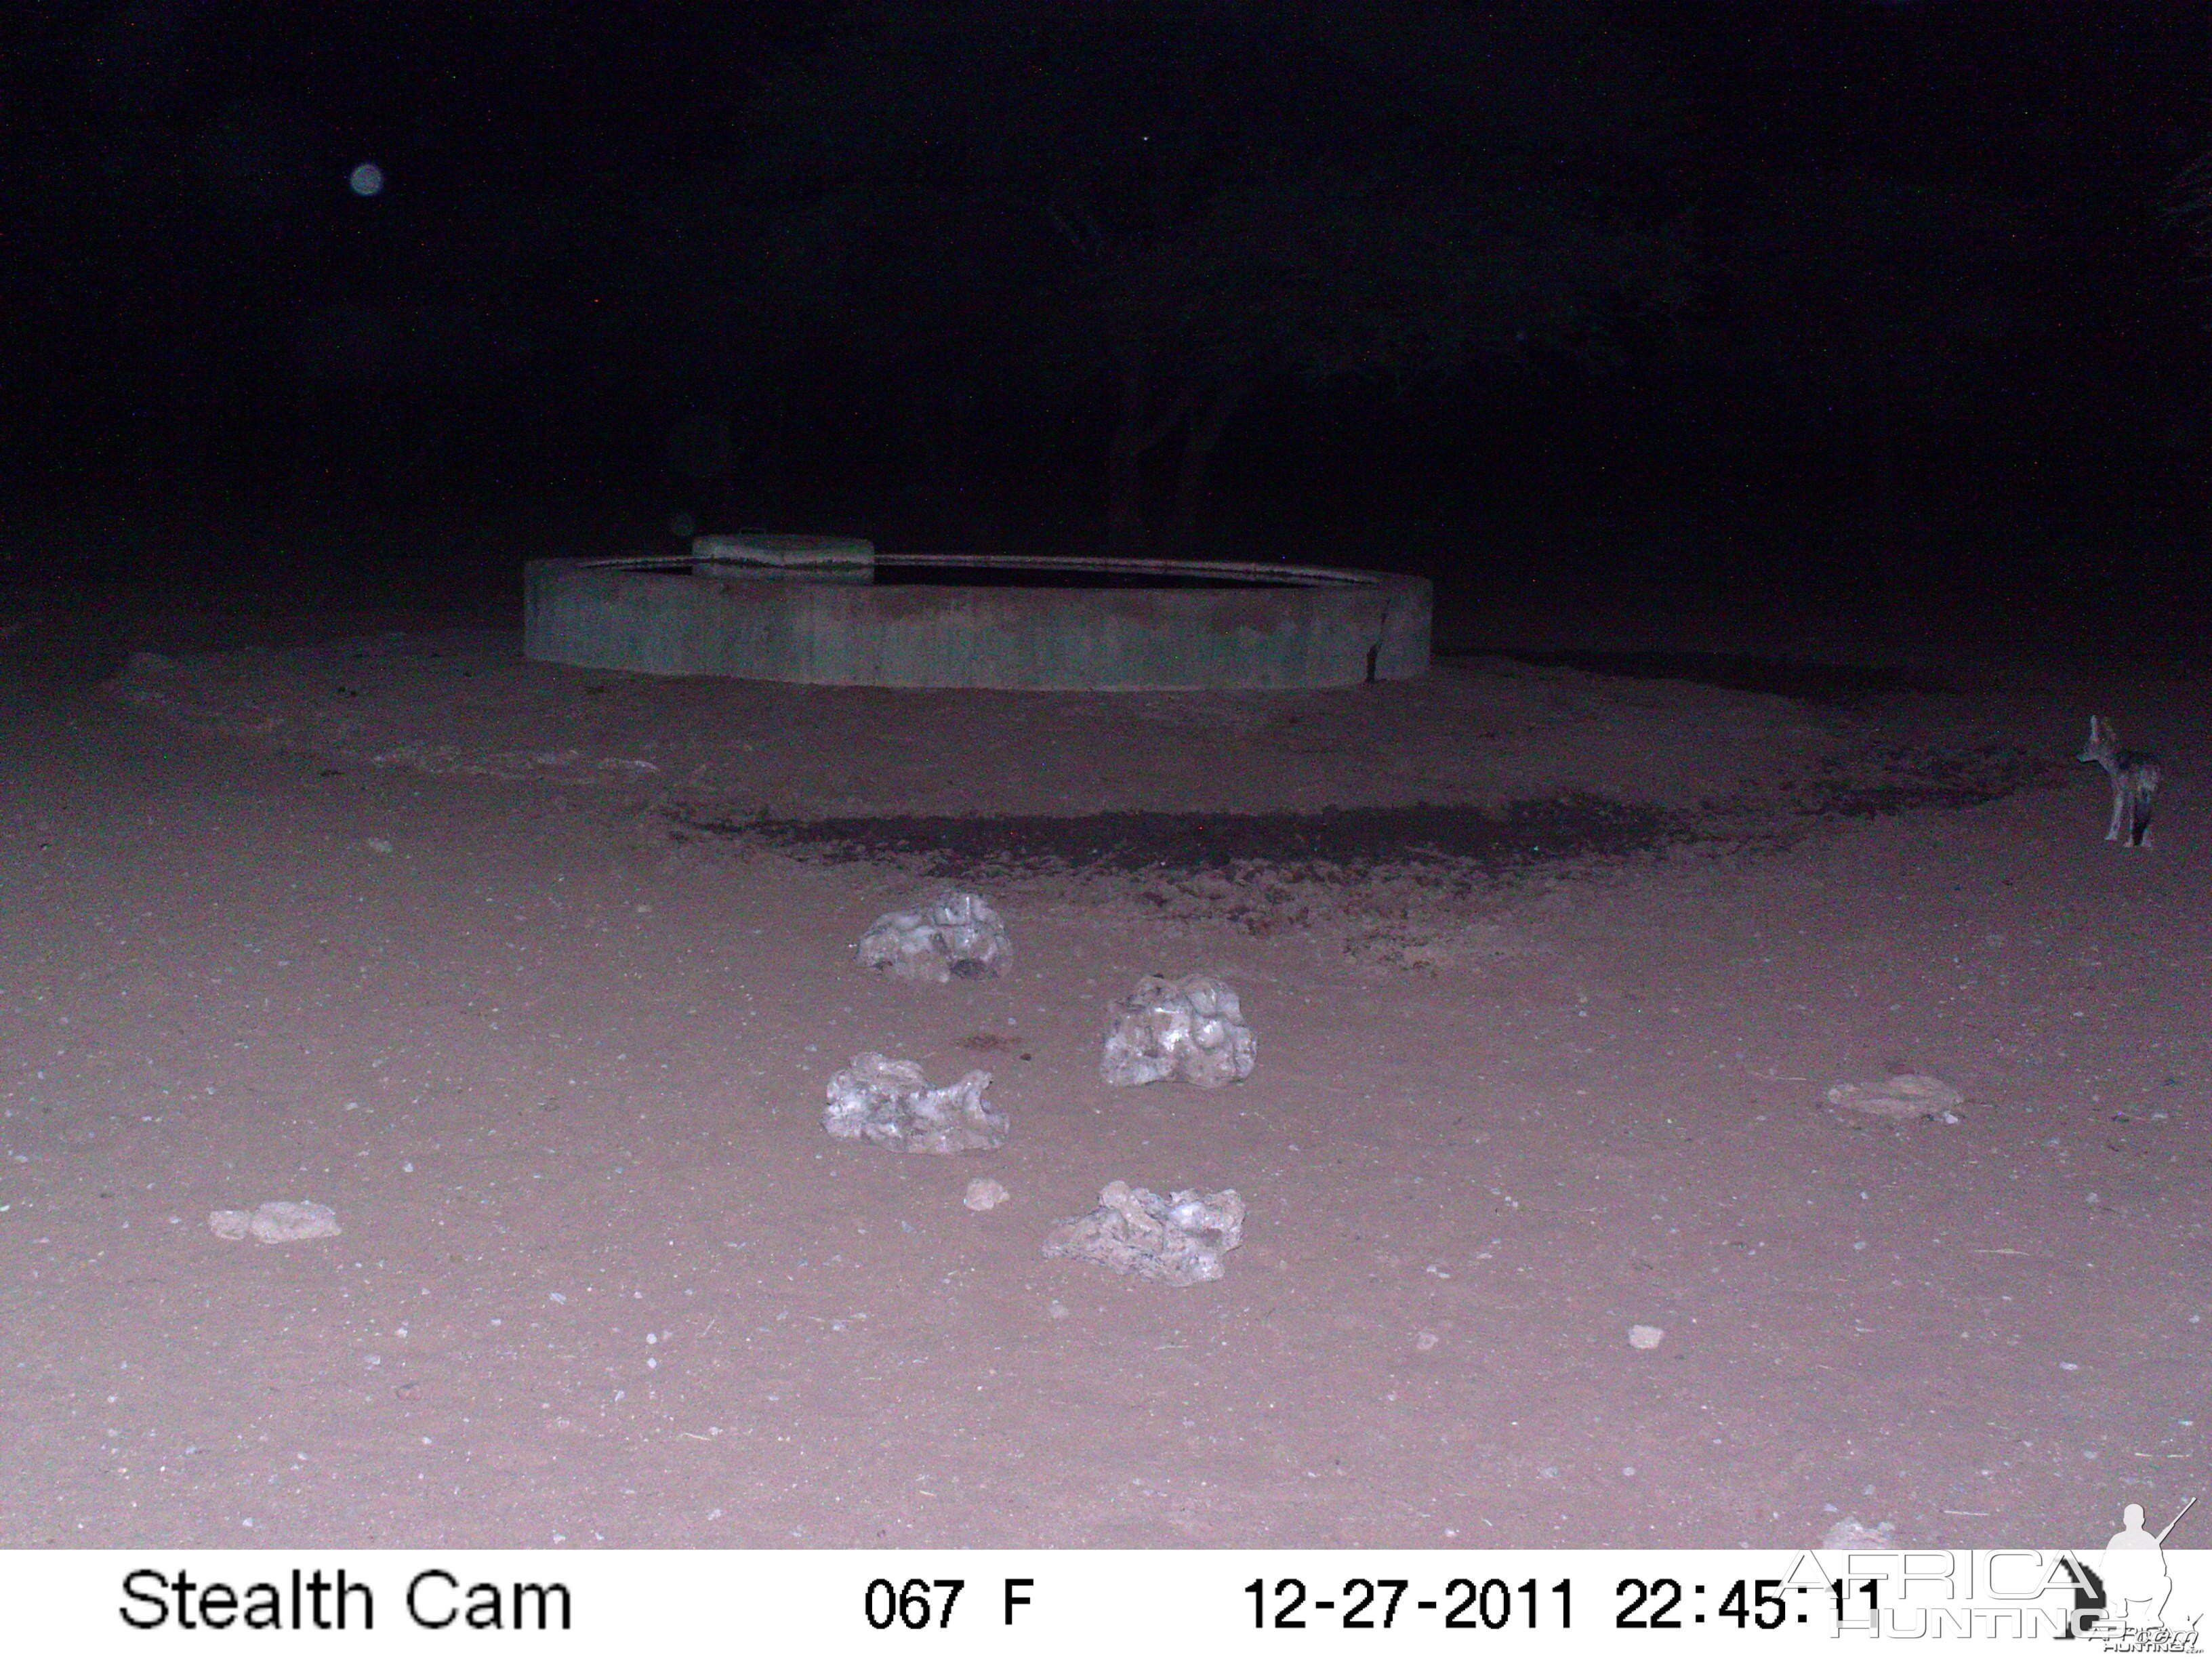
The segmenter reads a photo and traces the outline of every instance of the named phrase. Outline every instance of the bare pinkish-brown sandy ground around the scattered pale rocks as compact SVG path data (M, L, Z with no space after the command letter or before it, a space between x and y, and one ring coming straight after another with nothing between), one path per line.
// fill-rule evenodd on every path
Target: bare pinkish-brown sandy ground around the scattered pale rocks
M2203 1489L2181 684L805 692L482 630L102 679L44 633L0 1544L2093 1544ZM2090 706L2163 752L2157 852L2099 838ZM1272 860L1203 816L1321 810ZM1053 825L1102 812L1152 816ZM1011 978L854 964L931 874ZM1250 1082L1099 1079L1155 969L1243 993ZM867 1048L989 1068L1009 1144L830 1141ZM1896 1071L1955 1121L1823 1102ZM1117 1177L1239 1188L1225 1279L1046 1261ZM210 1232L263 1199L345 1232Z

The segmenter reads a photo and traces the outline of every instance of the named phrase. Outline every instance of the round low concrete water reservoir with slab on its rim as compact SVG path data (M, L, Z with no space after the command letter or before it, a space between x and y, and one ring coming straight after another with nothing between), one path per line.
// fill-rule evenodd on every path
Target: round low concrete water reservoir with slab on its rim
M1429 582L1376 571L701 535L533 560L524 655L803 686L1296 690L1427 672L1429 611Z

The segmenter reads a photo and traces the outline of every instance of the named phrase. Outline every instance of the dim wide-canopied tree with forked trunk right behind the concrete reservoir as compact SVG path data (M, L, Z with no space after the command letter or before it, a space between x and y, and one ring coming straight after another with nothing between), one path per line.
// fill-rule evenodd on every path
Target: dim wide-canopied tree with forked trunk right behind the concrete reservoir
M1670 82L1571 0L863 7L754 117L772 314L1108 387L1121 553L1270 383L1601 363L1688 292Z

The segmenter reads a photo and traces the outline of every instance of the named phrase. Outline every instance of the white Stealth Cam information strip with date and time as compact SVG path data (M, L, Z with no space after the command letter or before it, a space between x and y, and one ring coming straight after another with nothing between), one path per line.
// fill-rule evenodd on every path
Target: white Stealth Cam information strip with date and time
M2079 1551L9 1551L0 1655L184 1644L1212 1659L2064 1639L2205 1652L2212 1551L2128 1540Z

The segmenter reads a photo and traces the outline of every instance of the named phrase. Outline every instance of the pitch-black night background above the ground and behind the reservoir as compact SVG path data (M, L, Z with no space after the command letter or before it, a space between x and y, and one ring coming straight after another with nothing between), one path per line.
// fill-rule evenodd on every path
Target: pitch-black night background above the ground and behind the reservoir
M0 31L0 584L504 604L684 511L1420 568L1455 639L2203 619L2199 4Z

